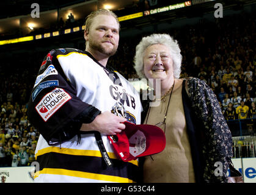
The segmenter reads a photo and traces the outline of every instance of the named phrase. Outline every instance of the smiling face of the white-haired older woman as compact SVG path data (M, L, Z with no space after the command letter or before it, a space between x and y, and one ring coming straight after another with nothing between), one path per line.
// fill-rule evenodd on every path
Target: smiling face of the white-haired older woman
M174 77L174 61L164 44L148 46L144 54L144 74L148 79L170 80Z

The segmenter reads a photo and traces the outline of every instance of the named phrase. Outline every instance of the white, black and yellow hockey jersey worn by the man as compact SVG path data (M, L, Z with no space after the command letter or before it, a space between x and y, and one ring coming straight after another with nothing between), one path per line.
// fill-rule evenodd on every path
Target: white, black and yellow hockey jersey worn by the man
M140 124L139 93L119 73L78 49L53 49L43 60L29 100L28 116L39 130L35 182L137 182L138 161L118 160L100 135L113 166L106 165L93 132L79 131L100 112L121 103Z

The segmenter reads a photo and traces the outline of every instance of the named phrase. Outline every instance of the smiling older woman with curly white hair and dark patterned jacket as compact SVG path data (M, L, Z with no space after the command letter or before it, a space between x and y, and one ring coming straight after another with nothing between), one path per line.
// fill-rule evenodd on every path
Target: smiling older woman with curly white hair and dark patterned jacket
M136 46L137 74L161 83L161 99L155 99L161 104L142 101L142 119L166 133L164 151L144 158L144 182L227 182L232 135L210 87L179 79L181 59L177 41L167 34L144 37Z

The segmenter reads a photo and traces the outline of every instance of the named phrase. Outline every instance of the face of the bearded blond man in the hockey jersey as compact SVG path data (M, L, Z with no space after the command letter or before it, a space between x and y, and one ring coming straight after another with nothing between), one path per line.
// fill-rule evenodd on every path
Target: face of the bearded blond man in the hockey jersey
M119 44L119 24L111 15L98 15L93 18L89 32L84 33L86 50L100 52L106 57L114 55Z

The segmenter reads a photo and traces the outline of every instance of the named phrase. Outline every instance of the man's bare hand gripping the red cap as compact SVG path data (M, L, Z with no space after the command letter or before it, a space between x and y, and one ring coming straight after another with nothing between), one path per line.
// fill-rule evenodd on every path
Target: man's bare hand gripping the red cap
M116 116L111 112L103 112L89 124L82 124L81 131L97 130L105 135L116 135L116 133L122 132L125 129L126 119L120 116Z

